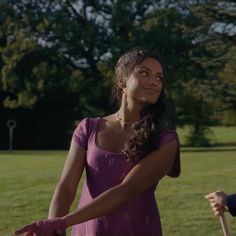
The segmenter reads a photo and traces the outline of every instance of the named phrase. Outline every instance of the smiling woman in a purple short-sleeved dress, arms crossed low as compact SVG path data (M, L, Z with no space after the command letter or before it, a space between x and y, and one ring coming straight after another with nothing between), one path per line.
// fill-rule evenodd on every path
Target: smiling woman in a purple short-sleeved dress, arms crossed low
M180 174L178 136L163 129L164 81L156 54L135 48L120 57L113 90L119 110L80 122L49 220L16 234L63 235L73 225L73 236L162 235L154 191L165 175ZM78 209L68 213L84 167Z

